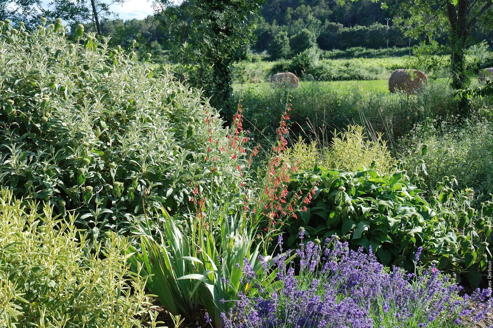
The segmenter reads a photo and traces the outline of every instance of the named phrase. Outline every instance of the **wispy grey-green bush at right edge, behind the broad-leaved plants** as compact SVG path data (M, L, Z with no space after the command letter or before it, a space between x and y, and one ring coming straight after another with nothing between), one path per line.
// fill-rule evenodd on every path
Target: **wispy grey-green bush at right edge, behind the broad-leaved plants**
M458 188L471 188L480 201L491 200L493 191L493 125L467 120L457 125L425 121L399 141L400 158L410 172L419 173L427 189L444 177L456 177ZM427 146L426 154L421 148ZM415 170L421 162L425 170Z

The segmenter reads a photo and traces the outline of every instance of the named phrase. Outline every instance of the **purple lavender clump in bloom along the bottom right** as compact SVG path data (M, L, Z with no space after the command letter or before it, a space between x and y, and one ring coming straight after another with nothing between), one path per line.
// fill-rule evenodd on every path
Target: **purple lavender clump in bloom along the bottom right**
M273 259L277 279L270 286L263 281L271 272L254 276L248 269L257 292L238 295L234 308L222 313L224 327L469 327L484 318L484 300L491 297L488 290L459 297L461 287L436 268L418 276L390 270L373 252L350 250L335 238L302 243L296 266L289 257L290 250Z

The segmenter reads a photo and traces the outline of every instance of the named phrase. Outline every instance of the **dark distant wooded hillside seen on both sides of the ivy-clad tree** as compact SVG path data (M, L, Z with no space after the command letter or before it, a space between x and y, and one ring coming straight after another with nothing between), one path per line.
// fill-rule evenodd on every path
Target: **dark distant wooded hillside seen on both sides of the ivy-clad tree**
M312 43L322 50L363 46L381 48L408 45L403 33L390 26L387 31L386 11L371 0L340 5L336 0L273 0L260 8L260 20L254 31L257 51L267 51L273 58L291 57ZM95 30L88 24L87 30ZM307 30L310 33L307 34ZM112 35L115 42L125 44L141 38L151 44L156 53L168 49L168 33L159 28L152 16L143 20L104 20L101 31ZM306 39L308 37L308 39ZM413 41L413 44L416 41Z

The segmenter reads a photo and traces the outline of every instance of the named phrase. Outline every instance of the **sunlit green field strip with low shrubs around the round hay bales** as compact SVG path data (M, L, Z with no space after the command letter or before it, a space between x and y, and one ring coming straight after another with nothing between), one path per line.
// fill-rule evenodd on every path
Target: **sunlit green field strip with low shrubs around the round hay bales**
M287 42L287 41L284 41ZM280 43L279 48L284 43ZM449 65L446 53L427 54L426 58L408 48L365 49L353 47L346 50L320 51L308 47L292 57L284 56L275 61L266 61L262 55L252 55L249 60L235 64L236 83L267 82L272 74L295 73L301 81L351 81L388 79L398 68L413 67L424 70L428 78L448 77ZM467 50L466 68L472 80L476 80L480 69L493 65L493 52L484 41ZM202 74L207 79L207 72Z

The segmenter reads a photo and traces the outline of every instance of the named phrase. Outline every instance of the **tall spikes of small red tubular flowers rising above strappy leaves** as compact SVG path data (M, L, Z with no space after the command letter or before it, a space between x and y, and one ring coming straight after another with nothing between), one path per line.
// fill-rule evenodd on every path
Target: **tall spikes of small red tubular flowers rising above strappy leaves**
M279 229L279 226L284 224L287 218L296 218L295 213L298 210L302 210L300 205L309 204L313 197L312 192L304 196L301 188L294 192L288 191L291 174L297 171L297 165L299 164L297 162L296 165L289 166L282 159L283 152L288 145L286 137L289 133L289 112L292 110L290 101L288 99L285 103L286 106L282 113L280 124L276 129L277 137L272 147L272 156L267 162L266 175L262 180L260 193L255 197L246 197L247 193L251 192L250 185L246 181L246 179L249 179L249 171L246 168L251 167L253 157L259 154L261 146L255 146L247 154L250 131L245 130L243 127L243 99L238 102L237 112L233 116L231 128L226 136L213 134L212 127L209 130L208 142L211 146L207 149L205 160L210 163L211 172L214 173L221 166L228 172L232 172L230 168L235 168L236 177L239 177L239 179L233 183L238 183L237 187L241 188L240 194L244 197L242 208L239 210L242 210L242 215L249 217L251 222L255 224L263 224L263 220L267 219L267 224L264 226L264 230L268 234L267 239L270 239L272 234ZM208 114L206 117L207 124L211 126L213 121L214 117ZM229 156L224 157L224 155L221 156L220 154L228 154ZM196 204L198 202L197 217L201 218L204 217L203 211L206 207L206 201L200 197L197 186L193 187L190 192L191 196L193 196L191 201ZM209 201L207 200L207 202Z

